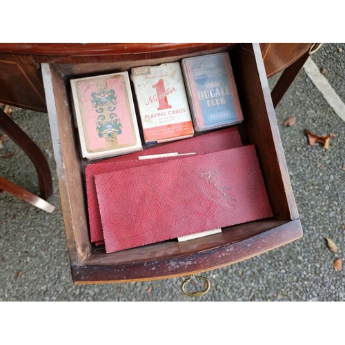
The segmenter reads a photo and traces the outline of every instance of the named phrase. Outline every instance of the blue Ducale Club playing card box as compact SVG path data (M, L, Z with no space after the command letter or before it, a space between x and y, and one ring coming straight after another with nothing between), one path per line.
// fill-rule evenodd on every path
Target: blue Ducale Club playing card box
M181 65L197 132L242 122L227 52L182 59Z

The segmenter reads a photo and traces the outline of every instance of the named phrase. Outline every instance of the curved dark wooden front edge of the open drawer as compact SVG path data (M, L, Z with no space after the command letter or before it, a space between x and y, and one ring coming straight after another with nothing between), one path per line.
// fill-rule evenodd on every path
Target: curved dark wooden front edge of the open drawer
M261 229L255 228L254 231L253 229L250 231L251 224L248 225L249 227L240 226L238 228L242 234L242 239L239 242L225 244L223 234L216 234L212 237L222 237L221 245L208 250L193 251L190 255L174 253L173 256L164 259L155 259L155 255L152 255L147 261L144 261L145 257L138 261L139 256L135 255L137 260L130 263L116 262L114 264L112 261L112 264L108 265L102 262L100 266L92 264L90 260L86 266L72 266L72 277L75 283L82 284L140 282L180 277L235 264L268 250L273 250L278 246L284 246L302 236L299 220L289 221L277 227L270 223L270 228L266 231L263 230L264 226ZM195 245L197 240L193 240L193 242ZM166 250L166 246L167 244L162 250ZM122 253L126 255L126 251ZM152 252L153 250L151 250ZM114 259L112 257L112 260ZM110 257L107 261L110 262Z

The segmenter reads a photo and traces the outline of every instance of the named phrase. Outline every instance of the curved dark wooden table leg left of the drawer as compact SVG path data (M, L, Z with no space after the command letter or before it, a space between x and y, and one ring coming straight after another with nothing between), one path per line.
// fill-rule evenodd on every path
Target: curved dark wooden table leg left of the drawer
M8 135L31 159L39 177L39 190L42 199L52 195L52 174L46 157L34 141L0 109L0 128ZM15 185L14 185L15 186ZM0 186L0 189L4 189Z

